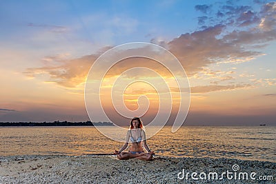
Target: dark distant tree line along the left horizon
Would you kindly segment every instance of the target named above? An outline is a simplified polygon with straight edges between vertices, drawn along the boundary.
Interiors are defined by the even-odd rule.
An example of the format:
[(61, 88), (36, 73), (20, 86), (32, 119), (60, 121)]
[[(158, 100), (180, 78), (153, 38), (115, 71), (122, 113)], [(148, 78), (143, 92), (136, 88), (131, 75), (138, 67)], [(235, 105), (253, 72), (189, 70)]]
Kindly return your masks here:
[(68, 121), (54, 121), (54, 122), (0, 122), (0, 126), (114, 126), (110, 122), (68, 122)]

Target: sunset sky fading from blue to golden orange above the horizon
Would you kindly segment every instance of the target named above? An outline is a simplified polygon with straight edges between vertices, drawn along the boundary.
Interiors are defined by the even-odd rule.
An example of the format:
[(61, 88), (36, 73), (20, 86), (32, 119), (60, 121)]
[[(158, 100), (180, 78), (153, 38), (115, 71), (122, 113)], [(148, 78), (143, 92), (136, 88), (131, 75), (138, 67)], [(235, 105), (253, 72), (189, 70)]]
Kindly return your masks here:
[[(186, 71), (184, 125), (276, 125), (275, 1), (2, 0), (0, 17), (0, 122), (108, 121), (88, 117), (88, 72), (110, 48), (146, 42), (166, 48)], [(108, 71), (103, 106), (120, 125), (128, 119), (115, 112), (110, 90), (124, 70), (137, 66), (172, 79), (150, 59), (126, 59)], [(148, 71), (121, 77), (157, 83)], [(121, 94), (130, 110), (150, 103), (144, 123), (159, 107), (152, 85), (137, 81)], [(138, 101), (141, 95), (146, 103)], [(166, 102), (172, 106), (168, 125), (179, 107), (173, 93), (172, 101)]]

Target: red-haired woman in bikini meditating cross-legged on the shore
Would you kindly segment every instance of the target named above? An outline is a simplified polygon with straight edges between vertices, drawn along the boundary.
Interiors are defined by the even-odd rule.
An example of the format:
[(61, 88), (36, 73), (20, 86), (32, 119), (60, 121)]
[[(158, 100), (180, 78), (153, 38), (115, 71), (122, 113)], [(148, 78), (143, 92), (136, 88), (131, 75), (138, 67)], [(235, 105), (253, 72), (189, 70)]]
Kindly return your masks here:
[[(144, 161), (152, 160), (152, 154), (154, 152), (150, 151), (148, 145), (146, 144), (146, 134), (145, 131), (142, 130), (142, 122), (139, 118), (135, 117), (130, 122), (130, 130), (126, 134), (126, 143), (121, 147), (119, 151), (115, 150), (114, 154), (117, 154), (117, 158), (120, 160), (127, 160), (127, 159), (140, 159)], [(131, 143), (129, 152), (123, 152), (126, 147), (128, 147), (128, 143)], [(146, 152), (144, 152), (142, 143)]]

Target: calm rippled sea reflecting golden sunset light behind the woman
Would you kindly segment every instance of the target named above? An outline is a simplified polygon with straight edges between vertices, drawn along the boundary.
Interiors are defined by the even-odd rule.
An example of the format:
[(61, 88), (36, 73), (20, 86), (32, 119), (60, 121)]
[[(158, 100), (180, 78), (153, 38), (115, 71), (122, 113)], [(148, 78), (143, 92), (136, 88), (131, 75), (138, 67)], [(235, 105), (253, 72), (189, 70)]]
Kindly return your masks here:
[[(112, 131), (112, 127), (106, 127)], [(99, 154), (123, 143), (95, 127), (0, 127), (0, 155)], [(157, 155), (213, 157), (276, 162), (276, 127), (164, 127), (147, 140)]]

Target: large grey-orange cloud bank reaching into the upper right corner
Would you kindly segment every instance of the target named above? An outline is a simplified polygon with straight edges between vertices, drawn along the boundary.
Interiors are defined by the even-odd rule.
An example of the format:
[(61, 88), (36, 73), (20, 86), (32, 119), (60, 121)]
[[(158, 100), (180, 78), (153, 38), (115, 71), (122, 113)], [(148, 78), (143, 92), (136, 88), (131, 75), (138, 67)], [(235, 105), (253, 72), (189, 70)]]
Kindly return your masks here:
[[(250, 6), (235, 5), (221, 6), (218, 12), (219, 19), (215, 14), (198, 17), (199, 24), (208, 23), (202, 30), (181, 34), (168, 42), (170, 51), (190, 75), (211, 63), (242, 63), (255, 59), (262, 55), (257, 48), (276, 39), (275, 3), (265, 4), (260, 12), (253, 12)], [(264, 19), (274, 21), (268, 21), (267, 25), (263, 21), (260, 27)], [(252, 47), (255, 50), (250, 49)]]

